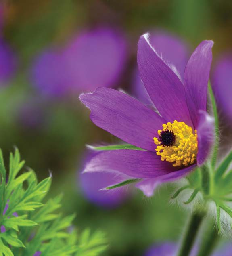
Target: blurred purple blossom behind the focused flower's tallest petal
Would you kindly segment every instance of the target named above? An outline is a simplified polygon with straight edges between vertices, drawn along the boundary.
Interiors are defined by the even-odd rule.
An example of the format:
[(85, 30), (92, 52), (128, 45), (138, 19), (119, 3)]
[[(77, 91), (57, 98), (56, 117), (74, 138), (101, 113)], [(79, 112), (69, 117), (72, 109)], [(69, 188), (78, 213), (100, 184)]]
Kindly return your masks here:
[[(185, 42), (180, 38), (165, 32), (154, 31), (150, 35), (150, 44), (160, 54), (163, 60), (169, 65), (174, 65), (180, 74), (181, 79), (184, 79), (184, 69), (186, 67), (189, 49)], [(135, 70), (132, 88), (134, 96), (145, 104), (152, 104), (148, 93), (142, 84), (138, 69)]]

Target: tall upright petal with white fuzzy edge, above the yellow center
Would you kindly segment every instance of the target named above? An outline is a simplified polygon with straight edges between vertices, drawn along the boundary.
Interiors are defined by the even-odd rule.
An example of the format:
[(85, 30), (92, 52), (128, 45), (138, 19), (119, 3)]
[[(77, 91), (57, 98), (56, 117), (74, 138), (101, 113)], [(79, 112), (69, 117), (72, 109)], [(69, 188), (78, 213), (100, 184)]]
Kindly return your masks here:
[(192, 126), (184, 86), (173, 66), (169, 67), (152, 48), (148, 34), (141, 36), (138, 42), (138, 68), (143, 84), (163, 118)]

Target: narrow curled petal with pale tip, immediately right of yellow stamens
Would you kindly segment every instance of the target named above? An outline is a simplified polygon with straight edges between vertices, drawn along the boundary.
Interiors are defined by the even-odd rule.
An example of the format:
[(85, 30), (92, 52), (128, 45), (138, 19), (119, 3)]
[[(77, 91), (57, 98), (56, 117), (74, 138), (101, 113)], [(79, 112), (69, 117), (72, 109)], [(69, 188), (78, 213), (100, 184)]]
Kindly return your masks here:
[(198, 153), (197, 164), (201, 166), (211, 152), (214, 142), (214, 118), (205, 111), (199, 111), (199, 124), (197, 126)]

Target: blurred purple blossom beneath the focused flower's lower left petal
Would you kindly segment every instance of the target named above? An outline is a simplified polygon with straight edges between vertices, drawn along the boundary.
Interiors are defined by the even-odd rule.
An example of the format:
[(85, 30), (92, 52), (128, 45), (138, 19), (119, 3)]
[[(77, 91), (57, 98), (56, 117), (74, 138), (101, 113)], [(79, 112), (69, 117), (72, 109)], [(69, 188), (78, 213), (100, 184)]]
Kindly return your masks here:
[[(97, 153), (90, 152), (85, 158), (85, 164), (90, 161)], [(78, 172), (78, 187), (81, 188), (85, 197), (92, 203), (112, 208), (118, 206), (126, 198), (125, 188), (112, 190), (101, 190), (109, 184), (114, 184), (115, 180), (118, 183), (125, 180), (125, 176), (112, 174), (111, 172), (95, 172), (95, 173), (79, 173)]]

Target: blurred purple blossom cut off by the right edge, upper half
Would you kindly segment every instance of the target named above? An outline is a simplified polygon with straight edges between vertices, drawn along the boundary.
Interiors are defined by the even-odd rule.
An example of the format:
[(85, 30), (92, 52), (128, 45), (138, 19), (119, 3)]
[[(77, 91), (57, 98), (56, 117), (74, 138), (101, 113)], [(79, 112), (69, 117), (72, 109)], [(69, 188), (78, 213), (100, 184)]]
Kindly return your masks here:
[(223, 55), (215, 66), (212, 78), (218, 105), (232, 123), (232, 54)]

